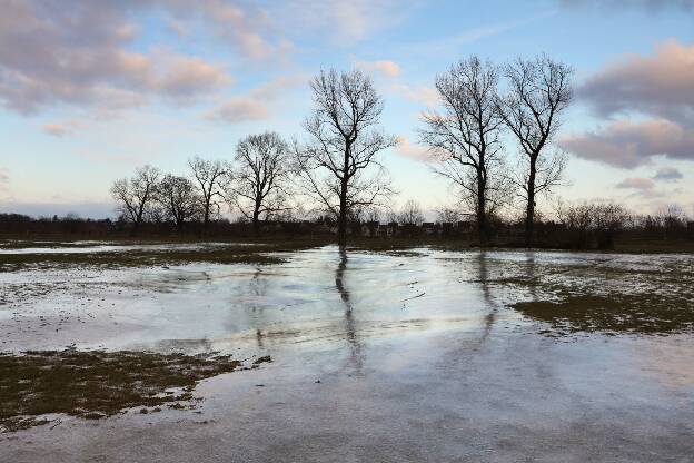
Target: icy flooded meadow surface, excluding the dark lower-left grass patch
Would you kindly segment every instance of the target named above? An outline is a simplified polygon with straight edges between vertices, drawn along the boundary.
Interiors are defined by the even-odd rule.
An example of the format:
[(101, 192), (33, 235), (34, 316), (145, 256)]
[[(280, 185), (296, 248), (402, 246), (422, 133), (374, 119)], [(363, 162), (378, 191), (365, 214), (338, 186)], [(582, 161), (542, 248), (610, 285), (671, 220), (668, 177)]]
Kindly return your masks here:
[(196, 410), (0, 434), (0, 461), (694, 461), (694, 256), (280, 257), (0, 273), (6, 353), (274, 359)]

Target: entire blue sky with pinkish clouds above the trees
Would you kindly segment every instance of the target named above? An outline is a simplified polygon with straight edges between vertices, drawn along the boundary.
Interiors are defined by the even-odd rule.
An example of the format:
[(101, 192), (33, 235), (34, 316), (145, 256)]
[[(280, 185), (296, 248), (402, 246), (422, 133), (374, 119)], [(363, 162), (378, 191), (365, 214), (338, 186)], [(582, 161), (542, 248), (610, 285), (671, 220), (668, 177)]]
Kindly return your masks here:
[(432, 211), (455, 200), (417, 139), (436, 76), (541, 53), (575, 69), (556, 195), (694, 215), (694, 0), (0, 0), (0, 213), (113, 216), (109, 188), (138, 166), (300, 140), (330, 68), (373, 78), (401, 140), (383, 155), (395, 205)]

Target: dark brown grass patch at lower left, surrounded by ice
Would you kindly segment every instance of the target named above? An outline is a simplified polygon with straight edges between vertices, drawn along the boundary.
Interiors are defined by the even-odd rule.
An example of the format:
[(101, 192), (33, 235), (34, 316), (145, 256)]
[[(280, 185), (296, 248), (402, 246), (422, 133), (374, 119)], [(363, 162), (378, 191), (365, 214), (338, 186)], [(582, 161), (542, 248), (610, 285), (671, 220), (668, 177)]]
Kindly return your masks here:
[(238, 368), (245, 367), (230, 356), (75, 349), (0, 354), (0, 427), (10, 432), (43, 424), (40, 416), (52, 413), (98, 420), (131, 407), (177, 407), (194, 398), (198, 381)]

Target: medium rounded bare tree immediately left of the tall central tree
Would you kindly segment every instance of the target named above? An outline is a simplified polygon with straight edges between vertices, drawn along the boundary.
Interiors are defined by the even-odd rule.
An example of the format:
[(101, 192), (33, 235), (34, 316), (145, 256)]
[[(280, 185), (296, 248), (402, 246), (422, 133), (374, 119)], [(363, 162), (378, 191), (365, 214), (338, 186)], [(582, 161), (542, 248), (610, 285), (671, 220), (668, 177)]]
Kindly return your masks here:
[(290, 176), (289, 147), (276, 132), (251, 135), (236, 148), (229, 200), (260, 234), (260, 218), (287, 209)]

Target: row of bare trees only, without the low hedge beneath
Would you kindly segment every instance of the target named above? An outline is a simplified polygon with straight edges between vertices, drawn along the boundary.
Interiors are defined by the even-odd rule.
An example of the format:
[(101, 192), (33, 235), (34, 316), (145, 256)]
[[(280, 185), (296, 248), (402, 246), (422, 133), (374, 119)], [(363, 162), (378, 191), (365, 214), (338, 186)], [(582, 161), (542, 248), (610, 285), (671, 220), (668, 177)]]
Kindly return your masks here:
[[(440, 106), (423, 115), (420, 142), (435, 173), (452, 183), (452, 203), (474, 217), (482, 244), (493, 237), (493, 218), (520, 200), (524, 240), (532, 245), (537, 197), (561, 184), (566, 166), (553, 142), (572, 100), (573, 72), (545, 56), (504, 66), (470, 57), (436, 78)], [(310, 89), (314, 108), (301, 140), (251, 135), (238, 144), (234, 159), (196, 157), (184, 176), (141, 167), (111, 188), (120, 217), (135, 233), (158, 220), (179, 232), (201, 221), (206, 233), (210, 218), (228, 208), (259, 234), (262, 221), (311, 211), (336, 221), (344, 245), (355, 217), (389, 209), (396, 191), (380, 154), (399, 140), (380, 128), (383, 98), (361, 71), (321, 71)], [(506, 159), (506, 135), (519, 152), (515, 169)]]

